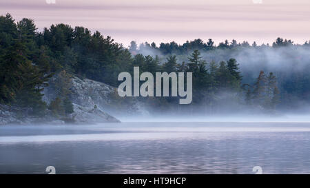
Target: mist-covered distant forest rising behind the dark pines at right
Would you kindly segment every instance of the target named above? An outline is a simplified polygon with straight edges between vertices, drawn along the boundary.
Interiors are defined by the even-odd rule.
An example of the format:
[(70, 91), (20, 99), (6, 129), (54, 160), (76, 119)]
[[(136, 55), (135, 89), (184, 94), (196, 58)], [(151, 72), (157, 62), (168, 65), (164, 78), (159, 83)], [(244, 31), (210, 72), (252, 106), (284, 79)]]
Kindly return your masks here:
[[(293, 41), (280, 37), (271, 45), (268, 43), (258, 45), (256, 42), (250, 45), (247, 41), (240, 43), (236, 40), (225, 40), (216, 45), (211, 39), (208, 39), (207, 42), (195, 39), (194, 41), (187, 41), (183, 45), (172, 42), (161, 43), (150, 48), (149, 45), (142, 44), (136, 53), (156, 54), (161, 59), (165, 59), (167, 56), (176, 56), (178, 66), (180, 66), (182, 64), (191, 65), (192, 62), (188, 61), (188, 57), (191, 56), (192, 52), (198, 50), (201, 59), (207, 62), (209, 70), (219, 69), (217, 74), (214, 71), (209, 72), (208, 79), (212, 88), (220, 87), (220, 91), (222, 91), (221, 94), (217, 91), (218, 94), (214, 96), (217, 98), (216, 101), (223, 103), (227, 101), (227, 106), (231, 101), (238, 101), (238, 104), (251, 104), (251, 109), (294, 111), (300, 107), (307, 108), (309, 105), (309, 46), (309, 41), (305, 41), (304, 44), (294, 44)], [(230, 63), (225, 65), (227, 61)], [(238, 67), (236, 72), (239, 72), (239, 75), (236, 75), (236, 72), (231, 72), (235, 69), (234, 67)], [(259, 100), (253, 99), (256, 95), (253, 94), (254, 85), (257, 83), (261, 71), (267, 74), (266, 77), (272, 73), (276, 85), (272, 91), (275, 93), (275, 97), (272, 100), (270, 99), (271, 91), (269, 90), (269, 99), (265, 100), (265, 104), (255, 103)], [(230, 76), (227, 72), (234, 76)], [(221, 76), (219, 77), (219, 75)], [(218, 79), (215, 81), (214, 78), (216, 77)], [(239, 90), (241, 94), (225, 94), (227, 85), (230, 85), (231, 88), (229, 92)], [(214, 94), (216, 90), (218, 89), (212, 90), (210, 94)], [(263, 93), (264, 98), (266, 98), (266, 92)], [(267, 105), (266, 103), (273, 104)], [(236, 107), (236, 104), (230, 106)], [(245, 109), (245, 107), (243, 108)], [(303, 110), (303, 112), (306, 111), (307, 109)]]

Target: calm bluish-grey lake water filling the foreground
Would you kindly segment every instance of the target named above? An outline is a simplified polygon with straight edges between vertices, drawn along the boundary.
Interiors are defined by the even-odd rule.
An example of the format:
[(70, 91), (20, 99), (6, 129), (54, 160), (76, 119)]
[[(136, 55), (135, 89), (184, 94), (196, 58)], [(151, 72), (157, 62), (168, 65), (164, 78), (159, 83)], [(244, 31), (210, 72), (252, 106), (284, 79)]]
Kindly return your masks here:
[(0, 126), (0, 174), (310, 174), (310, 123)]

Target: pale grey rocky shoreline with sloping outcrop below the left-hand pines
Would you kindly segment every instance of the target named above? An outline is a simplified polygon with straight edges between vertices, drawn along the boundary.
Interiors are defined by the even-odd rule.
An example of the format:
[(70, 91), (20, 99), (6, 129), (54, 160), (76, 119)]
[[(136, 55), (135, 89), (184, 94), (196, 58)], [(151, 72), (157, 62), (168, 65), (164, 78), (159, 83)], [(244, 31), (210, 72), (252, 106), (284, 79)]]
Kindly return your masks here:
[[(142, 105), (136, 98), (122, 98), (117, 94), (117, 88), (93, 81), (80, 79), (72, 76), (70, 88), (70, 101), (74, 112), (66, 117), (54, 117), (48, 110), (44, 117), (30, 116), (28, 109), (0, 105), (0, 125), (9, 124), (94, 124), (94, 123), (119, 123), (115, 116), (123, 114), (149, 115), (145, 105)], [(43, 90), (43, 101), (50, 104), (56, 98), (52, 86)]]

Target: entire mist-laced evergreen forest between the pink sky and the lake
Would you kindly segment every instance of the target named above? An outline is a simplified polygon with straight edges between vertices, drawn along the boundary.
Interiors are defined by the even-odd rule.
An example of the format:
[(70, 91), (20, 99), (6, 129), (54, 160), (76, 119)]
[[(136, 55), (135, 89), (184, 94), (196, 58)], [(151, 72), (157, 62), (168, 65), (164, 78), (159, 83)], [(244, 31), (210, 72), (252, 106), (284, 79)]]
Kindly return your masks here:
[[(212, 39), (195, 39), (182, 45), (132, 41), (124, 47), (81, 26), (60, 23), (38, 32), (32, 19), (14, 21), (6, 14), (0, 17), (0, 109), (20, 118), (74, 122), (72, 83), (92, 80), (112, 91), (120, 72), (138, 66), (141, 73), (192, 72), (192, 103), (179, 105), (173, 97), (121, 98), (112, 91), (105, 95), (110, 105), (94, 103), (87, 110), (132, 113), (139, 103), (149, 114), (297, 112), (310, 101), (309, 43), (278, 38), (271, 45), (235, 40), (216, 45)], [(44, 100), (46, 90), (54, 93), (49, 100)]]

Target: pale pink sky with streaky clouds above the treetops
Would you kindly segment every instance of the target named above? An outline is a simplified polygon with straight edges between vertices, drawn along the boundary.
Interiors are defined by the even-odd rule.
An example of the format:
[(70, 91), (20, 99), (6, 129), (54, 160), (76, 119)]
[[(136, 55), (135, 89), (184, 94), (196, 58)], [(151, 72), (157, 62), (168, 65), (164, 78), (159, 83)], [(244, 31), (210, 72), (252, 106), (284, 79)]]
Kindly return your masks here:
[[(54, 1), (54, 2), (53, 2)], [(0, 0), (0, 14), (99, 30), (126, 47), (137, 43), (228, 39), (272, 43), (310, 40), (309, 0)]]

